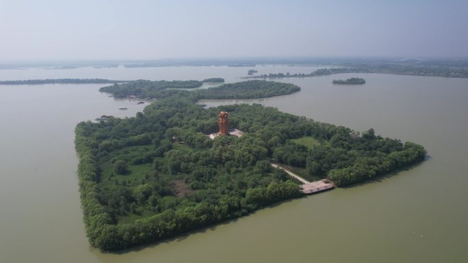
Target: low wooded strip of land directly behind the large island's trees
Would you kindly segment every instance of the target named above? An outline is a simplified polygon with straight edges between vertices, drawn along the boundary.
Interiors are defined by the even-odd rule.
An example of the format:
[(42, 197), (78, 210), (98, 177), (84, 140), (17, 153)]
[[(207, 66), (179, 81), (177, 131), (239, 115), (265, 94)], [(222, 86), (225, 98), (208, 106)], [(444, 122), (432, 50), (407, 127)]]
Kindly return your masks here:
[[(211, 80), (211, 79), (209, 79)], [(289, 83), (274, 81), (243, 81), (197, 89), (189, 92), (177, 88), (200, 87), (201, 81), (130, 81), (101, 87), (99, 91), (113, 94), (116, 98), (137, 96), (138, 98), (169, 98), (171, 96), (191, 97), (200, 99), (228, 99), (228, 98), (266, 98), (298, 92), (300, 87)]]

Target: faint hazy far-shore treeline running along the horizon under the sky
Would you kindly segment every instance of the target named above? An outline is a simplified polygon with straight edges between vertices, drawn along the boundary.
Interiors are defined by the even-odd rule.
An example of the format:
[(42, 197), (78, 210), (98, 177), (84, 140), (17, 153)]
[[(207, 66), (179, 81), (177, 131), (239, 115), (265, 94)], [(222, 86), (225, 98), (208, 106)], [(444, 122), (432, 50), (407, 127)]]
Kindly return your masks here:
[[(467, 57), (452, 58), (403, 58), (403, 57), (294, 57), (263, 59), (157, 59), (157, 60), (79, 60), (79, 61), (36, 61), (36, 62), (2, 62), (0, 68), (81, 68), (93, 66), (96, 68), (125, 66), (139, 67), (170, 67), (170, 66), (255, 66), (255, 65), (293, 65), (316, 66), (337, 65), (346, 68), (382, 68), (398, 67), (413, 71), (421, 68), (439, 68), (450, 72), (452, 70), (468, 69)], [(422, 72), (421, 72), (422, 73)], [(396, 73), (395, 73), (396, 74)]]

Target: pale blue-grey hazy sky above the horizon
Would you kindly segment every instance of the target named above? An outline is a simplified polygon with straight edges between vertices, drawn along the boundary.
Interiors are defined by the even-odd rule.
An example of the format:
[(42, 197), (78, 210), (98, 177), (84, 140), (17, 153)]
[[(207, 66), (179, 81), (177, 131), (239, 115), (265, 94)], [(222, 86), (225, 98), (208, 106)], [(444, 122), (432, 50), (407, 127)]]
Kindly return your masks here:
[(0, 0), (0, 60), (468, 56), (468, 0)]

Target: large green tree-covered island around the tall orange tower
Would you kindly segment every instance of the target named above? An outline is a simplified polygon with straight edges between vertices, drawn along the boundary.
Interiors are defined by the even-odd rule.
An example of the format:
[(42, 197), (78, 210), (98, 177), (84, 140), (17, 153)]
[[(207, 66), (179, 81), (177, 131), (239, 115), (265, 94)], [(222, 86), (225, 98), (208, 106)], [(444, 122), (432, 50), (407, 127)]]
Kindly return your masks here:
[[(196, 105), (203, 98), (298, 92), (293, 84), (170, 88), (193, 85), (130, 81), (103, 87), (101, 92), (116, 97), (157, 100), (135, 117), (77, 124), (79, 189), (93, 247), (153, 243), (304, 196), (300, 182), (280, 167), (307, 180), (348, 186), (426, 155), (423, 146), (380, 137), (372, 128), (359, 133), (257, 104)], [(234, 129), (241, 132), (233, 135)]]

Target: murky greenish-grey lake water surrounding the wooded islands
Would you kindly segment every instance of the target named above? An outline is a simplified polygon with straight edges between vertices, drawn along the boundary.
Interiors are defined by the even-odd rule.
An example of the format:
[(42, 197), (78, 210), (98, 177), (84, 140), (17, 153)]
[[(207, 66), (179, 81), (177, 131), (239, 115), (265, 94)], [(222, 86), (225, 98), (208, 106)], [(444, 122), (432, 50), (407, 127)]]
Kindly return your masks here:
[[(320, 67), (257, 66), (259, 74)], [(0, 80), (104, 78), (241, 81), (250, 68), (0, 70)], [(333, 85), (363, 77), (365, 85)], [(75, 125), (142, 111), (102, 85), (0, 86), (0, 262), (467, 262), (468, 79), (339, 74), (281, 79), (296, 94), (255, 102), (354, 130), (421, 143), (424, 163), (380, 180), (284, 202), (163, 243), (101, 253), (79, 202)], [(127, 107), (127, 111), (118, 110)]]

